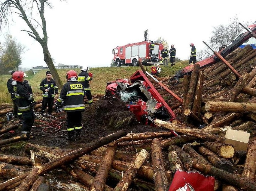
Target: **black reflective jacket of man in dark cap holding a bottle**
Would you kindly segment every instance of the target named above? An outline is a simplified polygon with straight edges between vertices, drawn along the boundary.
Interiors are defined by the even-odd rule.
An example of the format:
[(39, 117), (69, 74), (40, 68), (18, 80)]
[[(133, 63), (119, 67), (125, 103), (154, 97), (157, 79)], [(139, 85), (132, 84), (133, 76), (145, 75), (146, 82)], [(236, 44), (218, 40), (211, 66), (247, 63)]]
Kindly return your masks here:
[[(48, 93), (45, 93), (45, 90), (49, 88)], [(50, 81), (47, 81), (47, 78), (43, 79), (39, 85), (39, 89), (43, 91), (43, 97), (45, 98), (53, 98), (55, 94), (58, 93), (58, 86), (56, 82), (51, 78)]]

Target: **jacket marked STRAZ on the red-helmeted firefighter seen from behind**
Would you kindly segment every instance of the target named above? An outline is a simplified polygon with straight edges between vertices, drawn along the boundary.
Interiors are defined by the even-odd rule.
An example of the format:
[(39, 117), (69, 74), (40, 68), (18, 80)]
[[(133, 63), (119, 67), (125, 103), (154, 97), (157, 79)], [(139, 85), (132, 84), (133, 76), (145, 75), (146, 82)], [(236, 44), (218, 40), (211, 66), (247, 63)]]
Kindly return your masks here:
[(84, 87), (78, 81), (68, 81), (63, 85), (57, 101), (64, 102), (64, 111), (83, 111), (84, 108)]

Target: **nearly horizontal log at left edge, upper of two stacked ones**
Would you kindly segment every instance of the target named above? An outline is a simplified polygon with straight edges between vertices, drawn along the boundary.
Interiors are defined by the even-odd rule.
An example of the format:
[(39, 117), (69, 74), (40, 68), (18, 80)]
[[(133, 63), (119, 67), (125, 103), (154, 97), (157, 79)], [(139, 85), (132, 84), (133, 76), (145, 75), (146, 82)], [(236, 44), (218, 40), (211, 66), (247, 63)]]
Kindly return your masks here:
[(10, 163), (10, 164), (28, 165), (28, 166), (32, 164), (31, 159), (29, 159), (28, 157), (21, 157), (21, 156), (16, 156), (12, 154), (9, 154), (9, 155), (0, 154), (0, 161), (5, 163)]

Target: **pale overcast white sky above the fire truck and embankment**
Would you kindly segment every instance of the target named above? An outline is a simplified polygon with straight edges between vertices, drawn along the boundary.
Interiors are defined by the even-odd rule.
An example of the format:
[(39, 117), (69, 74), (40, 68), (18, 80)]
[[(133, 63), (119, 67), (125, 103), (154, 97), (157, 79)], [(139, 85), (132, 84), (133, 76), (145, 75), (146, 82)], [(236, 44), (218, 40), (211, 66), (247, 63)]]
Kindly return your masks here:
[[(55, 65), (110, 66), (114, 47), (143, 41), (148, 29), (150, 40), (164, 38), (184, 60), (190, 55), (190, 43), (197, 51), (206, 47), (202, 41), (209, 41), (213, 27), (227, 25), (235, 16), (240, 22), (256, 21), (256, 1), (246, 2), (52, 0), (53, 9), (45, 10), (48, 48)], [(8, 31), (26, 46), (22, 67), (46, 66), (40, 44), (21, 31), (28, 30), (24, 21), (14, 21), (2, 31), (1, 40)]]

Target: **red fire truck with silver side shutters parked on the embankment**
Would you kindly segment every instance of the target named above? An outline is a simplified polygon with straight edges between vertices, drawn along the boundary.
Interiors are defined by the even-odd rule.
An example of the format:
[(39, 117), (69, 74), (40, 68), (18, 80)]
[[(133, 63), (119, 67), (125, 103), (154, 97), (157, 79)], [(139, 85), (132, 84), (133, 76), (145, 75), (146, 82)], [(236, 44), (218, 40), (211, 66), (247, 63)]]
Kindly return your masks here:
[(153, 42), (155, 46), (151, 54), (151, 41), (149, 40), (113, 48), (112, 54), (114, 54), (114, 63), (117, 67), (121, 66), (121, 64), (125, 64), (126, 66), (138, 66), (138, 61), (143, 65), (155, 65), (162, 60), (160, 54), (163, 49), (163, 44), (159, 41)]

